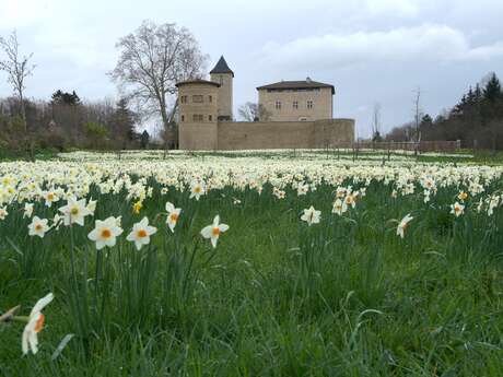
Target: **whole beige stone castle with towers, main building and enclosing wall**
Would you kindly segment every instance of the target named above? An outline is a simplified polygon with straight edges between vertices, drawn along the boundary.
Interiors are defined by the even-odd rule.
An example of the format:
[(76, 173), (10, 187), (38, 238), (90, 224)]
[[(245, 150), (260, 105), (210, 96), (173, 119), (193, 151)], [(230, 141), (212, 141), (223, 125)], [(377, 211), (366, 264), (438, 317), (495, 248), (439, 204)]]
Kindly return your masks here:
[(270, 119), (244, 122), (233, 121), (234, 72), (223, 57), (210, 78), (176, 85), (183, 150), (314, 149), (354, 141), (354, 120), (332, 119), (332, 85), (306, 80), (259, 86), (259, 104), (268, 113), (273, 104)]

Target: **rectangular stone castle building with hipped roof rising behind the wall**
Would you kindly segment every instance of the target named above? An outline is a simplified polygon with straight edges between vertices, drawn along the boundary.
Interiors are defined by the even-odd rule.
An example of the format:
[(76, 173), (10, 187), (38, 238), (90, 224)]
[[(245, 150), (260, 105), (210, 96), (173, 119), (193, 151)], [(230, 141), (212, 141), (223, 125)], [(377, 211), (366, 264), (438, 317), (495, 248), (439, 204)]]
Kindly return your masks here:
[(307, 78), (305, 81), (280, 81), (257, 87), (258, 103), (268, 120), (296, 121), (331, 119), (334, 115), (334, 85)]

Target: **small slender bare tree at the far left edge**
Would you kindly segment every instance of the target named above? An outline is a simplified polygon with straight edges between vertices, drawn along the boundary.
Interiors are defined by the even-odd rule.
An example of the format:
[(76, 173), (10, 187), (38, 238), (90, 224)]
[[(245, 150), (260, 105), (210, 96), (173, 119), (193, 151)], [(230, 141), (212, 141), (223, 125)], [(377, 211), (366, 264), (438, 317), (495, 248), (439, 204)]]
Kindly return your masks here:
[(15, 31), (5, 39), (0, 36), (0, 48), (5, 55), (5, 60), (0, 60), (0, 71), (8, 74), (8, 82), (12, 85), (14, 94), (20, 102), (21, 118), (26, 132), (26, 106), (24, 103), (25, 79), (33, 73), (34, 64), (30, 63), (33, 54), (21, 57), (20, 44)]

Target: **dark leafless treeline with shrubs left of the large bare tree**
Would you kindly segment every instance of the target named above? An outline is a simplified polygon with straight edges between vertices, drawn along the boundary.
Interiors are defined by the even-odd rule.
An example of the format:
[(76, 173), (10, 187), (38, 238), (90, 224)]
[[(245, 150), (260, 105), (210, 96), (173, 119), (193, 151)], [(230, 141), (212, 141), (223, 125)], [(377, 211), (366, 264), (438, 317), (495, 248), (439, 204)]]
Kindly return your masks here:
[(74, 91), (58, 90), (50, 101), (24, 99), (24, 107), (25, 122), (17, 98), (0, 99), (0, 155), (39, 149), (139, 149), (150, 141), (147, 131), (136, 131), (139, 119), (126, 99), (87, 103)]

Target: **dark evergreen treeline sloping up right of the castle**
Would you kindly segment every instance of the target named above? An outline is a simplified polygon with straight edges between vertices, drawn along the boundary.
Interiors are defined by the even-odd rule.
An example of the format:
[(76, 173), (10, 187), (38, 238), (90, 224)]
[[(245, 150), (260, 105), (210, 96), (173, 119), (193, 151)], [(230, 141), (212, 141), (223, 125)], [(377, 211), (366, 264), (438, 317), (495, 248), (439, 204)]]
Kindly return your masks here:
[(503, 91), (495, 73), (476, 84), (445, 114), (421, 117), (416, 122), (394, 128), (386, 140), (460, 140), (463, 148), (503, 150)]

